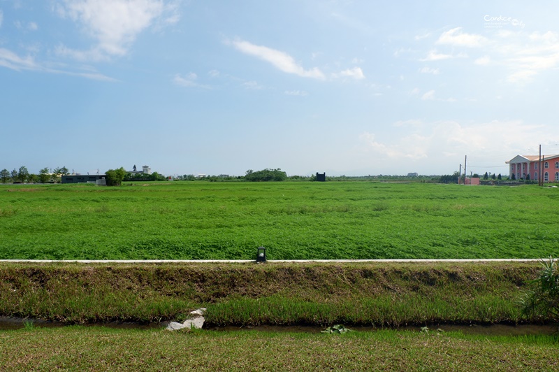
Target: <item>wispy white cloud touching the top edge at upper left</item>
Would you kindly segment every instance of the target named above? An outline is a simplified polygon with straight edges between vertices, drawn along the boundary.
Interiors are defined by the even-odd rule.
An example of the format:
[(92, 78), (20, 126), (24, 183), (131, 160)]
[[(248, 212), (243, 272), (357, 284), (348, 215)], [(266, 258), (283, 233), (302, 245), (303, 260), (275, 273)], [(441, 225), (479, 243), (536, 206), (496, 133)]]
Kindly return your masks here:
[(85, 51), (60, 45), (57, 52), (80, 60), (121, 57), (165, 9), (158, 0), (64, 0), (58, 4), (59, 15), (80, 23), (96, 44)]

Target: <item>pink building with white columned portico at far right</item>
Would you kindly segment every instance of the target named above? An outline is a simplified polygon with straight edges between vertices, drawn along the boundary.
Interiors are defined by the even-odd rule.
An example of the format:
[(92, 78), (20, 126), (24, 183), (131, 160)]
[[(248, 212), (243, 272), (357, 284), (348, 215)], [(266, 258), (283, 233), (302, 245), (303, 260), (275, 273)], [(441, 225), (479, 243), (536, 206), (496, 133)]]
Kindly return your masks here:
[[(544, 182), (559, 181), (559, 155), (542, 155), (542, 164), (539, 165), (539, 155), (516, 155), (510, 159), (509, 177), (517, 180), (538, 180), (543, 175)], [(541, 167), (542, 169), (538, 169)]]

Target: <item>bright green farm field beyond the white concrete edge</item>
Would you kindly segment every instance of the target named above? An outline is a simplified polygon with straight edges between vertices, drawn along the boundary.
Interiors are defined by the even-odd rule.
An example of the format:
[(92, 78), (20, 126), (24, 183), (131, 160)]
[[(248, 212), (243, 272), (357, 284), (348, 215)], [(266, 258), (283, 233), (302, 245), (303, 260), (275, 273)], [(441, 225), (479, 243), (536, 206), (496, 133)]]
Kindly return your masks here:
[(1, 185), (0, 259), (540, 258), (558, 206), (535, 185)]

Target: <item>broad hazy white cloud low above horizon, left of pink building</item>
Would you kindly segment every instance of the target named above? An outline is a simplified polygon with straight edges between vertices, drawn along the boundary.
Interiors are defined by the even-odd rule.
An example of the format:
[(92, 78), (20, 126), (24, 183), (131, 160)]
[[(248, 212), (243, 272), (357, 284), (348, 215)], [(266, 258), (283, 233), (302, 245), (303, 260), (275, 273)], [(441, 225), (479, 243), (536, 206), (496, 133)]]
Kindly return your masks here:
[[(447, 167), (458, 168), (467, 155), (472, 166), (474, 159), (489, 159), (491, 163), (486, 165), (502, 166), (506, 171), (504, 162), (519, 152), (525, 152), (526, 143), (540, 143), (542, 136), (551, 129), (525, 124), (521, 120), (473, 123), (407, 120), (404, 124), (396, 122), (393, 127), (401, 127), (400, 135), (391, 133), (382, 137), (370, 131), (358, 135), (356, 149), (362, 162), (373, 158), (375, 163), (371, 165), (374, 166), (386, 161), (390, 162), (391, 169), (432, 163), (437, 164), (438, 169), (433, 169), (433, 173), (442, 174), (447, 172), (444, 170)], [(554, 141), (557, 139), (553, 138)], [(495, 143), (499, 144), (498, 148), (495, 148)]]

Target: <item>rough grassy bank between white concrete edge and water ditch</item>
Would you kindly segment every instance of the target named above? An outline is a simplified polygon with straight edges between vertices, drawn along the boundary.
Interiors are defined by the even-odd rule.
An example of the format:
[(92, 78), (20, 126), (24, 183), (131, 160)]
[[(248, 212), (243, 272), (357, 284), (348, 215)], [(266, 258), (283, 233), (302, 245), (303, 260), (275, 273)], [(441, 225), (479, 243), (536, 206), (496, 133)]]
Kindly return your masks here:
[(208, 324), (535, 322), (518, 296), (537, 263), (0, 264), (0, 315)]

